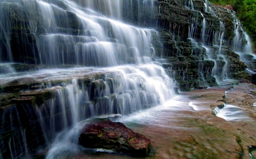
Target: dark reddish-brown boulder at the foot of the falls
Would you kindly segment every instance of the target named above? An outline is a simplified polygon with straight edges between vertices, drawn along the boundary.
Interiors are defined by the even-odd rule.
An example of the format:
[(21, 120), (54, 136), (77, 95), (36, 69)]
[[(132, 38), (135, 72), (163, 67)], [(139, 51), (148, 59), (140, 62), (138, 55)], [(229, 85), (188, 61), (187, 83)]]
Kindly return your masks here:
[(85, 125), (79, 143), (86, 148), (110, 149), (134, 156), (146, 156), (151, 148), (150, 139), (127, 128), (123, 123), (109, 119)]

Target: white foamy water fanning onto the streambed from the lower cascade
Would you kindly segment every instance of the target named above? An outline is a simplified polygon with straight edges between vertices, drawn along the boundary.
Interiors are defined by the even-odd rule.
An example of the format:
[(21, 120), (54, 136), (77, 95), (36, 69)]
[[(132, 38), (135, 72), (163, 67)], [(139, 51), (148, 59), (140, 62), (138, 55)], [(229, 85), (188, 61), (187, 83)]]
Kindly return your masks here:
[[(196, 101), (193, 101), (196, 103)], [(177, 126), (175, 121), (177, 120), (177, 115), (182, 115), (183, 111), (200, 111), (204, 108), (197, 108), (193, 105), (193, 102), (189, 102), (185, 96), (175, 96), (171, 100), (164, 102), (162, 105), (155, 106), (150, 109), (141, 110), (130, 115), (123, 115), (114, 121), (122, 122), (125, 124), (142, 124), (160, 127), (170, 127), (170, 128), (185, 128), (183, 126)], [(193, 106), (191, 106), (191, 104)], [(179, 116), (183, 118), (183, 116)], [(185, 115), (184, 118), (189, 117)], [(174, 123), (172, 123), (174, 122)]]

